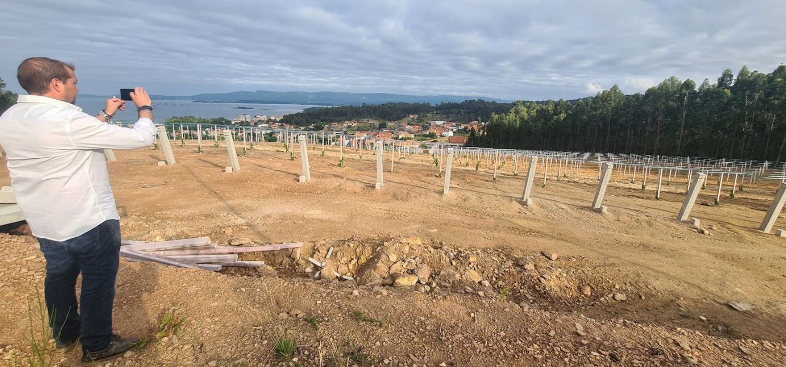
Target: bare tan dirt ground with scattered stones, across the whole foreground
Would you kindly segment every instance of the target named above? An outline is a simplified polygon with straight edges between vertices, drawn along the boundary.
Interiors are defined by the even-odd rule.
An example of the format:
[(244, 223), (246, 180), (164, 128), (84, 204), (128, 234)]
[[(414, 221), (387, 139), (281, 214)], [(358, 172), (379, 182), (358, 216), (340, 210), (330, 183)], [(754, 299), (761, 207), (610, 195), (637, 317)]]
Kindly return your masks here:
[[(684, 176), (654, 200), (654, 174), (642, 190), (641, 178), (615, 172), (601, 215), (588, 208), (594, 165), (561, 181), (552, 167), (545, 187), (541, 171), (524, 207), (510, 161), (494, 181), (487, 165), (457, 159), (443, 196), (425, 154), (391, 174), (387, 152), (377, 191), (373, 152), (345, 149), (337, 167), (337, 149), (310, 147), (302, 184), (299, 152), (291, 161), (280, 144), (249, 149), (231, 174), (223, 146), (173, 145), (171, 167), (156, 167), (163, 152), (152, 149), (109, 163), (123, 238), (306, 244), (241, 256), (277, 274), (123, 260), (116, 332), (149, 343), (112, 365), (786, 365), (786, 240), (757, 230), (775, 182), (697, 204), (704, 235), (674, 219)], [(716, 180), (699, 202), (714, 201)], [(3, 164), (0, 185), (9, 182)], [(310, 277), (307, 257), (322, 261), (331, 247), (356, 281)], [(0, 251), (0, 365), (11, 365), (29, 354), (44, 261), (32, 237), (0, 234)], [(424, 272), (420, 284), (393, 285)], [(171, 312), (181, 328), (156, 337)], [(281, 336), (298, 343), (296, 361), (274, 355)], [(54, 360), (76, 365), (79, 351)]]

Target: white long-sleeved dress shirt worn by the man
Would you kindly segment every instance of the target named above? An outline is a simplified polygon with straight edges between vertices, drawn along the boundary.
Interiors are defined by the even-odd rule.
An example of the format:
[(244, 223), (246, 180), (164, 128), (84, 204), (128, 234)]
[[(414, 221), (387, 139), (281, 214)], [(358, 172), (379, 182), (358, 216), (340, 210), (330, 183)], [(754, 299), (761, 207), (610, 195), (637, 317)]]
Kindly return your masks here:
[(119, 219), (103, 149), (151, 145), (156, 127), (103, 123), (50, 97), (20, 95), (0, 116), (11, 187), (35, 237), (68, 240)]

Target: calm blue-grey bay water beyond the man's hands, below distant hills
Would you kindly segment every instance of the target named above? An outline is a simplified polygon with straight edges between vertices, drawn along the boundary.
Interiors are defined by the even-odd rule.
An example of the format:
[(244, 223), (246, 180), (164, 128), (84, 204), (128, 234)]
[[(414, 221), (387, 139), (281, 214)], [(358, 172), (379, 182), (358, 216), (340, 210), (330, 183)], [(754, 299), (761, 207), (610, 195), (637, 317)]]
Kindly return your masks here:
[[(106, 98), (103, 97), (76, 97), (76, 105), (81, 107), (84, 112), (95, 115), (104, 109)], [(233, 119), (235, 116), (241, 114), (248, 114), (252, 117), (255, 115), (267, 116), (283, 116), (290, 113), (302, 112), (305, 108), (310, 107), (325, 107), (314, 105), (273, 105), (273, 104), (257, 104), (257, 103), (211, 103), (211, 102), (194, 102), (185, 100), (159, 100), (152, 101), (152, 105), (156, 108), (153, 111), (153, 116), (156, 117), (157, 122), (163, 122), (167, 117), (172, 116), (196, 116), (211, 119), (214, 117), (224, 117), (226, 119)], [(248, 107), (248, 108), (233, 108), (233, 107)], [(134, 102), (126, 101), (126, 110), (118, 111), (115, 115), (115, 122), (133, 123), (137, 120), (136, 108)]]

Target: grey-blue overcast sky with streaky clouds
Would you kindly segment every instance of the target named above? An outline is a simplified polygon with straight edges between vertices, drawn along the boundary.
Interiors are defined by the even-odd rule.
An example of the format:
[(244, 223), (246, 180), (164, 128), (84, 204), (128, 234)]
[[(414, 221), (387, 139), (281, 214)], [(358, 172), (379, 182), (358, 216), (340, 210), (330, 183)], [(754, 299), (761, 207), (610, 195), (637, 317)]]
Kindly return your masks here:
[[(170, 5), (172, 4), (172, 5)], [(575, 98), (786, 62), (786, 1), (6, 0), (0, 78), (76, 65), (81, 93), (306, 90)]]

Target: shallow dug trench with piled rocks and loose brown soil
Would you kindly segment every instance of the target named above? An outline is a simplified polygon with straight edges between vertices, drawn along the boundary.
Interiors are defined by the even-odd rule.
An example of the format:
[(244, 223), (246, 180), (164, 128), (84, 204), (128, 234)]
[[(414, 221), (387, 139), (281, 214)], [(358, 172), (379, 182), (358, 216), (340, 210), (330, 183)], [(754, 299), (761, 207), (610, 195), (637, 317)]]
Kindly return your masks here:
[[(511, 248), (462, 249), (420, 237), (352, 237), (302, 248), (241, 255), (265, 268), (225, 268), (240, 277), (281, 277), (379, 292), (496, 298), (523, 309), (688, 328), (729, 339), (783, 342), (783, 320), (718, 307), (661, 289), (635, 270), (586, 257)], [(315, 265), (318, 264), (318, 265)], [(322, 267), (324, 265), (324, 267)], [(330, 274), (332, 271), (335, 273)], [(344, 280), (339, 275), (352, 277)], [(712, 303), (712, 304), (708, 304)]]

